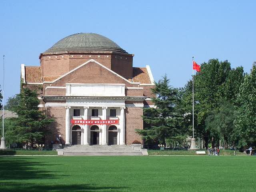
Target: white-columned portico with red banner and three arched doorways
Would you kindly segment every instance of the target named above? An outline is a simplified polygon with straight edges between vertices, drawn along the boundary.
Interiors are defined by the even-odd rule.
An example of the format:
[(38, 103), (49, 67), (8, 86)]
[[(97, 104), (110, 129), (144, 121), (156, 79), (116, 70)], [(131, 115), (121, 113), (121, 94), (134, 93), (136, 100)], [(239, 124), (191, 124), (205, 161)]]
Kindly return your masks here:
[[(107, 145), (109, 128), (113, 126), (116, 130), (110, 130), (110, 132), (117, 132), (116, 144), (125, 144), (125, 104), (122, 106), (102, 106), (98, 107), (92, 106), (65, 106), (66, 108), (66, 145), (76, 144), (72, 137), (72, 132), (77, 132), (78, 130), (73, 130), (74, 126), (80, 127), (81, 132), (81, 145)], [(79, 114), (82, 112), (82, 114)], [(72, 124), (72, 121), (74, 124)], [(102, 124), (102, 122), (108, 121), (108, 124)], [(80, 123), (81, 122), (81, 123)], [(90, 123), (89, 123), (90, 122)], [(118, 122), (118, 123), (116, 123)], [(97, 129), (98, 127), (98, 129)], [(94, 133), (96, 132), (96, 134)], [(91, 134), (92, 133), (92, 134)], [(97, 136), (98, 135), (98, 136)], [(92, 138), (94, 137), (94, 138)], [(95, 142), (95, 139), (98, 142)], [(112, 143), (111, 143), (112, 144)]]

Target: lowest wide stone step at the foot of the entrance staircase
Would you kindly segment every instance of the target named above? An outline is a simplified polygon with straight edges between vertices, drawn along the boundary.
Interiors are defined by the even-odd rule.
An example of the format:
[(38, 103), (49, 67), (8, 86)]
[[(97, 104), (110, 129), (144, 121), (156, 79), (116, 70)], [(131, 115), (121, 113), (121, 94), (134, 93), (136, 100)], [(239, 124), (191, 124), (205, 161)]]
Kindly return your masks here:
[(63, 152), (65, 156), (141, 156), (142, 152)]

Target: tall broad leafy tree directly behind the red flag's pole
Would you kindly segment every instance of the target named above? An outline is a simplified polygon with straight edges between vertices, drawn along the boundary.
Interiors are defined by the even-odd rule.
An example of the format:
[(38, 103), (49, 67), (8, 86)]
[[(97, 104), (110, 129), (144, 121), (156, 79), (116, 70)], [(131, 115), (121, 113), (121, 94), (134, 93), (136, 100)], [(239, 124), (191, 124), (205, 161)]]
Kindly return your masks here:
[[(194, 120), (195, 132), (202, 135), (205, 147), (208, 141), (212, 146), (216, 143), (220, 132), (211, 123), (226, 100), (235, 104), (240, 84), (243, 82), (244, 72), (242, 67), (231, 69), (228, 61), (211, 59), (201, 65), (201, 72), (194, 76)], [(182, 105), (186, 110), (187, 119), (192, 122), (192, 80), (184, 86), (182, 94)], [(208, 124), (206, 125), (206, 119)], [(229, 126), (229, 125), (226, 125)], [(191, 126), (190, 126), (191, 127)], [(219, 133), (219, 134), (218, 134)], [(214, 138), (215, 137), (215, 138)]]

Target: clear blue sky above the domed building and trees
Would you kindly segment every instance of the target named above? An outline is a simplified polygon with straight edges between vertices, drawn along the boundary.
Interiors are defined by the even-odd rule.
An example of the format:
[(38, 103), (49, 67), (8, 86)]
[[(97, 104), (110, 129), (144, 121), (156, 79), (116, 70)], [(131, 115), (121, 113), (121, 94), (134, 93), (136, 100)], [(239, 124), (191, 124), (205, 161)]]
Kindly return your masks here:
[[(0, 85), (6, 55), (5, 97), (20, 91), (20, 64), (79, 32), (104, 35), (134, 54), (134, 66), (150, 65), (181, 87), (191, 78), (192, 56), (228, 60), (250, 72), (256, 61), (256, 1), (10, 1), (0, 2)], [(6, 101), (6, 99), (5, 99)]]

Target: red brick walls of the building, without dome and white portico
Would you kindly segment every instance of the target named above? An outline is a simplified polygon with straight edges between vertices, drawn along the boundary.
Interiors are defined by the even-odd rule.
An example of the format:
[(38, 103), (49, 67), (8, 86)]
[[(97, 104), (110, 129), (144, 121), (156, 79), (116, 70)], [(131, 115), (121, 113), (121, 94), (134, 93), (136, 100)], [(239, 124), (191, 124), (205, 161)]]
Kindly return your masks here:
[(135, 129), (143, 129), (143, 104), (144, 107), (153, 105), (150, 88), (154, 80), (149, 66), (133, 68), (132, 54), (111, 51), (42, 53), (39, 58), (40, 67), (27, 68), (22, 76), (28, 88), (40, 87), (39, 97), (43, 98), (40, 104), (48, 106), (45, 108), (48, 116), (55, 118), (51, 125), (53, 132), (47, 136), (49, 142), (58, 134), (66, 142), (67, 84), (124, 84), (125, 143), (142, 142)]

